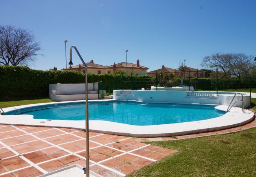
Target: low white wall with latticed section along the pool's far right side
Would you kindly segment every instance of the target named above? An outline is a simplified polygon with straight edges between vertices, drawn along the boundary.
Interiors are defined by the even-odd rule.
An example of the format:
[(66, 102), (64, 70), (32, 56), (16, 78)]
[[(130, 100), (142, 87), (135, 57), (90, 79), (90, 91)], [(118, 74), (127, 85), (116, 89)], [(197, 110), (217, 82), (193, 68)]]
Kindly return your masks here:
[[(234, 94), (219, 94), (218, 97), (187, 97), (188, 91), (165, 91), (165, 90), (113, 90), (115, 100), (135, 100), (143, 102), (169, 102), (169, 103), (196, 103), (228, 106)], [(237, 95), (234, 101), (242, 99)], [(234, 102), (233, 101), (233, 102)], [(250, 106), (250, 95), (244, 94), (245, 108)], [(237, 102), (234, 107), (241, 107)]]

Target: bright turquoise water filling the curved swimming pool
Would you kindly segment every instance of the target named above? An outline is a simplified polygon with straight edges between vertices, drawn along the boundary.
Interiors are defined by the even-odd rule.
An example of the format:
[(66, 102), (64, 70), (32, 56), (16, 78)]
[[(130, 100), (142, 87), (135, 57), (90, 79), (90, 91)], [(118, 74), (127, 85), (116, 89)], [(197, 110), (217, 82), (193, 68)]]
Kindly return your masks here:
[[(46, 105), (20, 109), (9, 114), (32, 114), (36, 119), (85, 120), (85, 103)], [(213, 106), (134, 101), (89, 102), (89, 120), (106, 120), (130, 125), (159, 125), (205, 120), (222, 116)]]

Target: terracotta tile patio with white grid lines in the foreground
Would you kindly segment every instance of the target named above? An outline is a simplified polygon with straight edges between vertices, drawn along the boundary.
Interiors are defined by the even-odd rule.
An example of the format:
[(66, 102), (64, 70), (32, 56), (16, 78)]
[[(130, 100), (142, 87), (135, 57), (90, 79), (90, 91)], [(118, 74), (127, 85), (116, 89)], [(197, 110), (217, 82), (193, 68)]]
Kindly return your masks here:
[[(135, 142), (131, 137), (89, 133), (90, 170), (119, 177), (175, 150)], [(86, 165), (85, 133), (75, 129), (0, 125), (0, 176), (39, 176)]]

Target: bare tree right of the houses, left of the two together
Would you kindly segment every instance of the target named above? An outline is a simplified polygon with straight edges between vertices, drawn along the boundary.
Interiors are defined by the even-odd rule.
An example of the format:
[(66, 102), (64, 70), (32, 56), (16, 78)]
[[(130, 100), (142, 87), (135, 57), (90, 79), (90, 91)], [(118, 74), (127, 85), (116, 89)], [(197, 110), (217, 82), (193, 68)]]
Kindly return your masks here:
[(218, 68), (224, 72), (221, 78), (225, 77), (230, 70), (230, 60), (232, 60), (231, 53), (215, 53), (211, 56), (206, 56), (203, 58), (202, 67)]

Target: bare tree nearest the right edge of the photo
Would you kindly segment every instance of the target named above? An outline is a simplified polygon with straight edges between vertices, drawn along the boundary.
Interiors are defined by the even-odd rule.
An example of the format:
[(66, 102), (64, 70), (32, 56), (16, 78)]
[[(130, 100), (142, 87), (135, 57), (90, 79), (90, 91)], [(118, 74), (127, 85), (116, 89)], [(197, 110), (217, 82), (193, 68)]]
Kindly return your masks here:
[(255, 68), (253, 62), (253, 56), (245, 55), (244, 53), (232, 54), (232, 60), (230, 60), (230, 71), (233, 76), (236, 76), (239, 81), (241, 77), (247, 77), (252, 69)]

